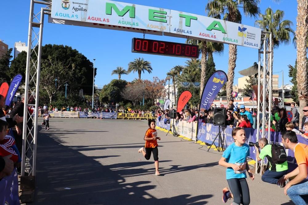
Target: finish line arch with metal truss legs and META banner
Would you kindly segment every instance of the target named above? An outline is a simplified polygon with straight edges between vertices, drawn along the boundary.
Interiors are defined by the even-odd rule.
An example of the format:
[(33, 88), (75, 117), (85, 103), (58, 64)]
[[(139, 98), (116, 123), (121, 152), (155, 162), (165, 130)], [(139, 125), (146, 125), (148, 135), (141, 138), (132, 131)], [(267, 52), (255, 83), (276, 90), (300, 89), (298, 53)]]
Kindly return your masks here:
[[(69, 0), (30, 0), (25, 93), (30, 93), (29, 96), (34, 98), (35, 103), (29, 104), (29, 96), (25, 95), (21, 187), (32, 191), (34, 191), (35, 187), (38, 112), (34, 112), (34, 116), (30, 115), (34, 122), (31, 127), (28, 127), (26, 122), (29, 120), (27, 119), (28, 106), (34, 106), (36, 110), (38, 110), (39, 106), (39, 82), (45, 14), (48, 16), (48, 22), (51, 23), (192, 38), (258, 49), (258, 99), (262, 99), (262, 102), (259, 100), (257, 105), (258, 114), (261, 114), (257, 118), (258, 131), (260, 131), (260, 126), (263, 127), (267, 121), (270, 122), (270, 118), (266, 117), (266, 110), (270, 110), (271, 100), (266, 101), (266, 97), (263, 96), (272, 96), (271, 33), (262, 32), (261, 29), (251, 26), (181, 11), (109, 0), (95, 1), (95, 3), (94, 1), (90, 3), (88, 0), (75, 0), (74, 5), (72, 5), (72, 1), (70, 2)], [(38, 13), (34, 12), (34, 6), (36, 5), (41, 7)], [(73, 8), (74, 11), (71, 10)], [(108, 21), (107, 18), (98, 17), (101, 16), (101, 13), (98, 13), (101, 10), (97, 8), (103, 8), (104, 15), (110, 17)], [(121, 20), (119, 20), (119, 17)], [(246, 30), (250, 31), (249, 34)], [(250, 37), (249, 40), (247, 35)], [(239, 40), (235, 40), (236, 38)], [(38, 53), (35, 52), (36, 48), (38, 48)], [(33, 59), (32, 55), (35, 55), (37, 58)], [(267, 75), (269, 77), (263, 77)], [(27, 130), (30, 132), (27, 133)], [(261, 137), (270, 136), (270, 130), (266, 133), (257, 132), (257, 140), (260, 135)], [(28, 176), (25, 176), (25, 171), (28, 173)], [(32, 182), (29, 183), (30, 181)]]

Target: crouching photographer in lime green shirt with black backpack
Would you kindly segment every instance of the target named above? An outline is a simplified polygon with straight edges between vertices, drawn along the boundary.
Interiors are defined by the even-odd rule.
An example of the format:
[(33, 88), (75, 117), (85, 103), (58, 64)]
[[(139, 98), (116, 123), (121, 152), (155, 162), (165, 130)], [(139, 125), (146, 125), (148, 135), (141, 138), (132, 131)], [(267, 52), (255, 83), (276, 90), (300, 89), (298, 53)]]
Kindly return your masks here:
[[(249, 146), (251, 144), (249, 143)], [(261, 138), (259, 143), (254, 144), (254, 147), (256, 148), (257, 160), (261, 161), (266, 157), (270, 163), (268, 164), (269, 169), (262, 175), (262, 181), (284, 187), (285, 184), (278, 184), (278, 179), (286, 175), (288, 171), (287, 156), (284, 148), (281, 145), (268, 144), (266, 138)], [(259, 152), (258, 147), (261, 148), (261, 152)]]

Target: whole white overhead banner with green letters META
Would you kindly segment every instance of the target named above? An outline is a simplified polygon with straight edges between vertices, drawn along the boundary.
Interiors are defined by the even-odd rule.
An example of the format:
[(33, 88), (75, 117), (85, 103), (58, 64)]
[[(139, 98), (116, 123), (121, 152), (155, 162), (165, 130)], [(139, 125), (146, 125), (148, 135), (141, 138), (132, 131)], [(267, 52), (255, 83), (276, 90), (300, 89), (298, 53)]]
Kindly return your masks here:
[(261, 46), (260, 28), (182, 11), (109, 0), (53, 0), (49, 22), (132, 32), (144, 31), (255, 49)]

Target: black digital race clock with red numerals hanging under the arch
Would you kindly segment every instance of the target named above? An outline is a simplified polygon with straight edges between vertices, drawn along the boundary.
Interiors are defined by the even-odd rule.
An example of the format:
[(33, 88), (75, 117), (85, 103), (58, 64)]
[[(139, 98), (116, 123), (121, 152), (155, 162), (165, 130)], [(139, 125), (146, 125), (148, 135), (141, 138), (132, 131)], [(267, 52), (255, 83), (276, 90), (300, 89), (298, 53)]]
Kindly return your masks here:
[(132, 39), (132, 52), (186, 58), (199, 57), (199, 47), (197, 45), (156, 41), (144, 38)]

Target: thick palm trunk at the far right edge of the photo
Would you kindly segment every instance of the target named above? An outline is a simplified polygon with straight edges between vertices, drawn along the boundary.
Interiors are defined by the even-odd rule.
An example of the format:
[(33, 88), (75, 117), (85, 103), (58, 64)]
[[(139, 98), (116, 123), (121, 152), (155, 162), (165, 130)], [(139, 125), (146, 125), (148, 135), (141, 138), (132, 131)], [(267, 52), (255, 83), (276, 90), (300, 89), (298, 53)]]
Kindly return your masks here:
[(306, 23), (308, 14), (308, 1), (298, 0), (297, 5), (297, 28), (295, 31), (296, 35), (296, 47), (297, 47), (297, 90), (298, 90), (298, 101), (299, 101), (299, 124), (302, 122), (303, 108), (307, 105), (307, 31), (308, 26)]

